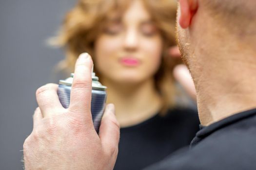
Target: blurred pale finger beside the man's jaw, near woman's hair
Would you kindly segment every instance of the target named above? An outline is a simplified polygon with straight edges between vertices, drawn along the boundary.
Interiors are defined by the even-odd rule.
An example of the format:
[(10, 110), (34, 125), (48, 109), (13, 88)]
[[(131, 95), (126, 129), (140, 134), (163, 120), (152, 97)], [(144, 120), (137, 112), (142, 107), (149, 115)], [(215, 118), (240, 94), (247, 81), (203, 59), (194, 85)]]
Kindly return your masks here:
[(185, 65), (177, 65), (174, 68), (173, 74), (177, 82), (179, 82), (190, 97), (196, 101), (196, 89), (188, 68)]

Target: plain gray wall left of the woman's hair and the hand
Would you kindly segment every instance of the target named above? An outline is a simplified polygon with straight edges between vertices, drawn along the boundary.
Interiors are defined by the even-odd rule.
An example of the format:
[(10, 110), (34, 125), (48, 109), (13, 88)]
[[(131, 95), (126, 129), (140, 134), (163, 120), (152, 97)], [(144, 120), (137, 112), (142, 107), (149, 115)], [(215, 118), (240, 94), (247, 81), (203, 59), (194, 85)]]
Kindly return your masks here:
[(22, 170), (32, 131), (35, 91), (63, 59), (45, 43), (76, 0), (0, 0), (0, 170)]

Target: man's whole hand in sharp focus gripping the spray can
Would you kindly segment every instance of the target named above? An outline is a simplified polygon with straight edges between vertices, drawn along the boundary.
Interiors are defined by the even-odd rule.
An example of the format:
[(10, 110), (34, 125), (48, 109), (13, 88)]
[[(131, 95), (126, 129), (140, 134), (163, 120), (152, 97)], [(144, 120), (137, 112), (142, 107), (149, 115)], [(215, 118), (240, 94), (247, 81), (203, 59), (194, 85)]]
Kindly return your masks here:
[(58, 85), (37, 90), (39, 107), (33, 131), (24, 142), (26, 170), (112, 170), (118, 154), (119, 124), (114, 105), (106, 107), (99, 135), (91, 115), (92, 68), (87, 53), (79, 56), (65, 109), (59, 102)]

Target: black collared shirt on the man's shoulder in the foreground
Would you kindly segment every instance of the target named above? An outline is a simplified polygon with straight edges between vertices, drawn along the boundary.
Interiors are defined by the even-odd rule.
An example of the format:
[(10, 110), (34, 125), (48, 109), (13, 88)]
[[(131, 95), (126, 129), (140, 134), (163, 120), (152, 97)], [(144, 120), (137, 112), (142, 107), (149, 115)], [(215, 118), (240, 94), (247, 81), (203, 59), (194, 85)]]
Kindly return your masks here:
[(190, 151), (178, 151), (145, 170), (256, 170), (256, 109), (203, 127)]

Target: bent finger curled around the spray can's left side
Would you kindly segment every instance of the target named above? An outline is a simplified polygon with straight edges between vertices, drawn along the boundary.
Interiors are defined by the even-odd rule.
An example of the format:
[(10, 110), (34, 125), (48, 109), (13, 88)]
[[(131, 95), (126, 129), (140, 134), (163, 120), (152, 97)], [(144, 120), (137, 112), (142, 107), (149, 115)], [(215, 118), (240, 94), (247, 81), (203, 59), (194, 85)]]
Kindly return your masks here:
[(57, 89), (58, 85), (47, 84), (37, 90), (37, 102), (43, 117), (51, 116), (54, 110), (63, 108), (59, 102)]

